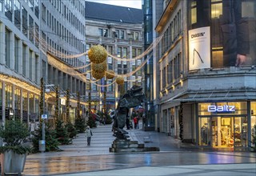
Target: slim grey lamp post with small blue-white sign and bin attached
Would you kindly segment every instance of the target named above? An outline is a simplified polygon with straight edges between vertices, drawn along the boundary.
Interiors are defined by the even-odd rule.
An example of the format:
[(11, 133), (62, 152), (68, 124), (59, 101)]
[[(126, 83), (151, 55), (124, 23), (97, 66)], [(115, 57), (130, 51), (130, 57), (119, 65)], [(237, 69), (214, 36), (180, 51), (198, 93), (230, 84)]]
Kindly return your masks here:
[(39, 140), (39, 150), (41, 152), (46, 151), (46, 125), (45, 125), (45, 119), (47, 119), (47, 114), (45, 111), (45, 93), (46, 92), (50, 92), (50, 89), (46, 89), (46, 87), (50, 87), (50, 86), (54, 86), (54, 84), (50, 84), (50, 85), (44, 85), (43, 86), (43, 92), (42, 92), (42, 140)]

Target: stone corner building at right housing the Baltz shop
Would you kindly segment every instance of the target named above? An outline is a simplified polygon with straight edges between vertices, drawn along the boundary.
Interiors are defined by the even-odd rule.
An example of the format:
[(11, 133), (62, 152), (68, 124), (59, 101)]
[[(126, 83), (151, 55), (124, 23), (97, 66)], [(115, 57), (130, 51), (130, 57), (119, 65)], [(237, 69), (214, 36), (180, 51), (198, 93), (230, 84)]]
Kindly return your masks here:
[[(164, 2), (155, 28), (159, 128), (196, 146), (247, 150), (256, 126), (256, 2)], [(157, 81), (157, 80), (156, 80)]]

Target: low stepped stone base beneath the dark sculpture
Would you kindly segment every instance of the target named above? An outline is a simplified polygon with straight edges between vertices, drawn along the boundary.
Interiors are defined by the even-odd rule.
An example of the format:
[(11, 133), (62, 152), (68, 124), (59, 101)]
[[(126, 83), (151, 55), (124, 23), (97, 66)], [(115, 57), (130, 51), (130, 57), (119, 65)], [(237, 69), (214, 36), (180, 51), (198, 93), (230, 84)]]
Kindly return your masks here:
[(139, 144), (138, 141), (130, 141), (129, 139), (115, 139), (110, 152), (125, 153), (125, 152), (143, 152), (143, 151), (159, 151), (158, 147), (145, 147), (144, 144)]

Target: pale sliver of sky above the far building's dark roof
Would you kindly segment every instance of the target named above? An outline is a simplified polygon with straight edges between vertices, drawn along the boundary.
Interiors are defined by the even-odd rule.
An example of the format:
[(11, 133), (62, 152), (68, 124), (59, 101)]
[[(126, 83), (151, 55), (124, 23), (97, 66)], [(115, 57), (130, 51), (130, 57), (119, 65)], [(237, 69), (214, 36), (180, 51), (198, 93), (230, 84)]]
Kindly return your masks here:
[(86, 0), (87, 2), (99, 2), (115, 6), (127, 6), (142, 9), (142, 0)]

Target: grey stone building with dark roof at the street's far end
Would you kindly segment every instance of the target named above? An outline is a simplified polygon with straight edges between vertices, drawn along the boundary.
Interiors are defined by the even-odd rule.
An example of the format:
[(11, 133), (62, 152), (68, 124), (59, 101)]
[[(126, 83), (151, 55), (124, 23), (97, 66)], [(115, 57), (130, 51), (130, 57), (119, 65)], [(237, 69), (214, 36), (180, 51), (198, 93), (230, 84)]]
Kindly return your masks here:
[[(122, 59), (135, 58), (143, 51), (142, 10), (123, 6), (113, 6), (96, 2), (86, 2), (86, 50), (91, 46), (102, 45), (107, 52)], [(86, 58), (86, 63), (89, 63)], [(142, 64), (142, 59), (136, 61), (118, 61), (107, 58), (108, 70), (115, 74), (125, 75), (133, 72)], [(129, 77), (124, 76), (122, 86), (113, 84), (114, 80), (102, 78), (98, 85), (106, 86), (106, 110), (114, 110), (118, 103), (120, 91), (129, 90), (133, 85), (142, 86), (142, 70)], [(93, 79), (93, 78), (92, 78)], [(95, 110), (102, 110), (104, 87), (91, 83), (93, 97), (99, 95)]]

